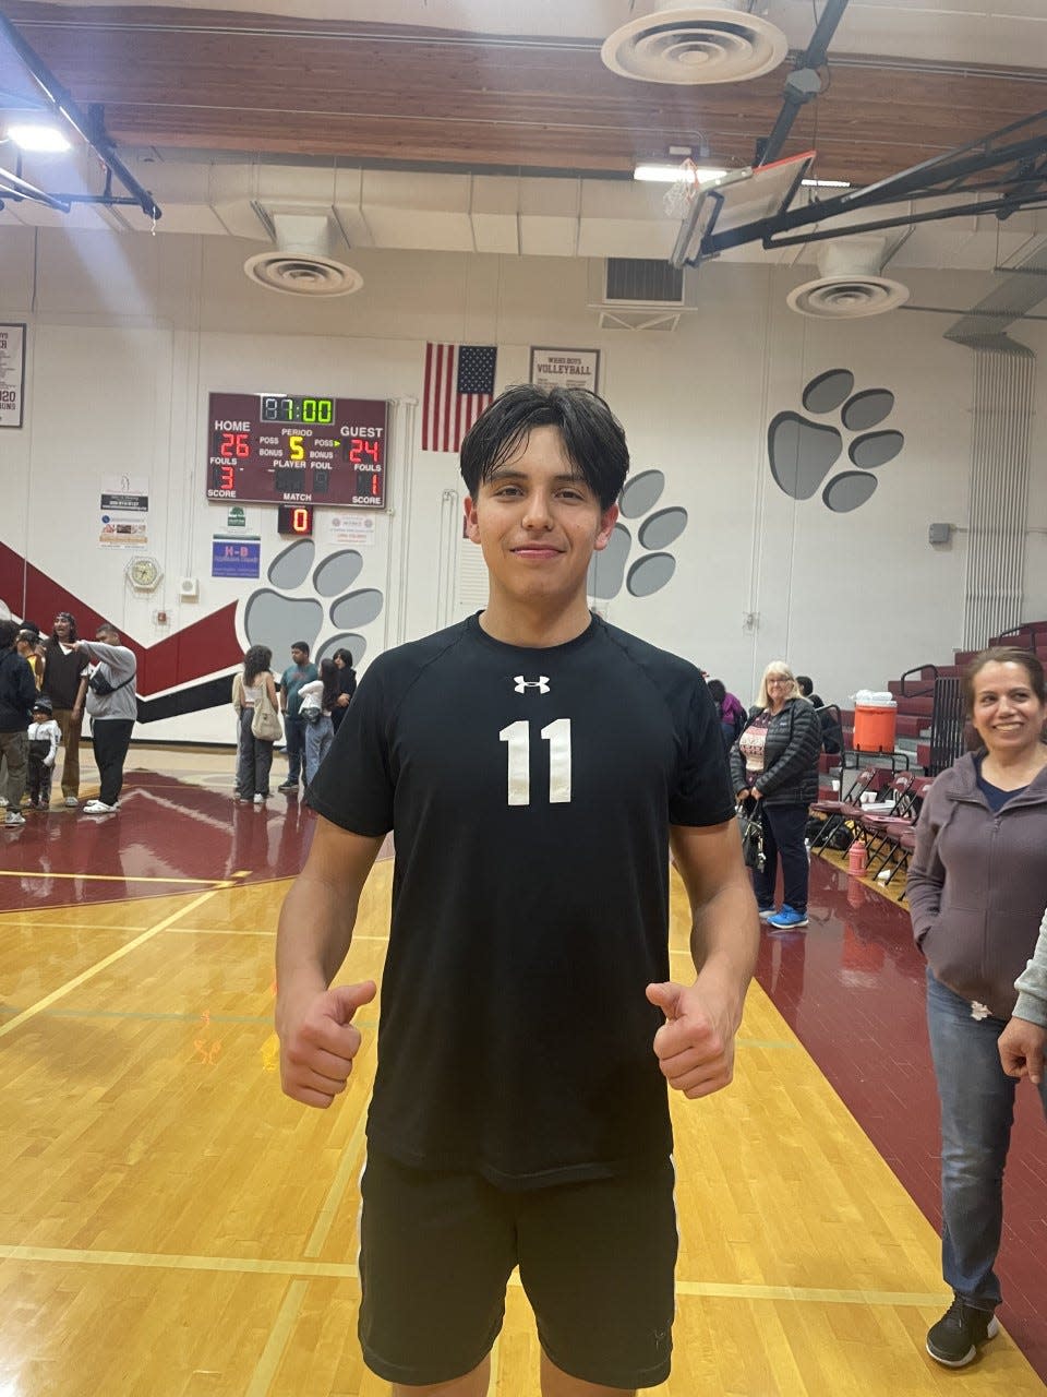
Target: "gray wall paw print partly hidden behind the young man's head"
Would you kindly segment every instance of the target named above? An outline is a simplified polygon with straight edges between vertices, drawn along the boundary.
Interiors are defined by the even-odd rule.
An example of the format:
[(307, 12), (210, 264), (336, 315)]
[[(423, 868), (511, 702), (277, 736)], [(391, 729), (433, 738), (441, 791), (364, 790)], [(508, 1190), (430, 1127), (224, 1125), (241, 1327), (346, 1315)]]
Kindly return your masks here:
[[(589, 563), (586, 591), (599, 601), (617, 597), (623, 585), (631, 597), (660, 592), (676, 571), (676, 559), (664, 552), (687, 528), (687, 510), (677, 506), (656, 510), (666, 478), (660, 471), (641, 471), (625, 482), (618, 496), (618, 522), (610, 542)], [(630, 563), (632, 531), (623, 520), (638, 520), (637, 543), (644, 553)]]

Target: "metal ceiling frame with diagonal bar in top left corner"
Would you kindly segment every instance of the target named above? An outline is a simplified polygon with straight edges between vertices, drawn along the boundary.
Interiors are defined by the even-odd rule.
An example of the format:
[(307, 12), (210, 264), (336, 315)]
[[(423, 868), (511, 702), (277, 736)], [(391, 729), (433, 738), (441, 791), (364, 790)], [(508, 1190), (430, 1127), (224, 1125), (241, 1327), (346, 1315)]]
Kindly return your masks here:
[[(71, 126), (84, 144), (95, 152), (106, 170), (105, 189), (101, 194), (49, 194), (22, 177), (22, 159), (20, 156), (14, 170), (0, 168), (0, 207), (3, 207), (6, 200), (28, 200), (68, 214), (74, 204), (101, 204), (105, 208), (130, 204), (141, 208), (145, 217), (154, 222), (161, 218), (162, 210), (152, 198), (152, 194), (142, 189), (134, 175), (131, 175), (116, 154), (116, 147), (106, 136), (102, 108), (91, 106), (84, 113), (47, 68), (43, 59), (29, 47), (4, 14), (0, 14), (0, 35), (7, 39), (43, 92), (43, 108), (53, 116), (60, 117), (67, 126)], [(113, 177), (120, 182), (127, 194), (113, 193)]]

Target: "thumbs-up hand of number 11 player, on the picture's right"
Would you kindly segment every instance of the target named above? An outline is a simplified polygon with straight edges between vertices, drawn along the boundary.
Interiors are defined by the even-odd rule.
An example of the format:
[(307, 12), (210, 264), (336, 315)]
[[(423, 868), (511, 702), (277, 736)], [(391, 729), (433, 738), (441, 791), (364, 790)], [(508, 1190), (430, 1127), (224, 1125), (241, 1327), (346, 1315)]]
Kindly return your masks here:
[(734, 1076), (734, 1032), (726, 1006), (702, 990), (667, 981), (648, 985), (648, 999), (666, 1016), (655, 1034), (663, 1077), (685, 1097), (708, 1097)]

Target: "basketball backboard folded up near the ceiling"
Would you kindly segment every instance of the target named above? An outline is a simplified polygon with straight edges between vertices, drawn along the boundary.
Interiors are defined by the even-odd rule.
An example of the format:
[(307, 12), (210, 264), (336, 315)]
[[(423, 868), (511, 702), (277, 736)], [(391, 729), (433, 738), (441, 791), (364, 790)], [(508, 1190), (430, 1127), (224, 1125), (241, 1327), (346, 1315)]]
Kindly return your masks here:
[(715, 256), (708, 246), (713, 233), (758, 224), (789, 208), (815, 155), (817, 151), (804, 151), (771, 165), (727, 170), (701, 182), (692, 177), (687, 169), (690, 162), (685, 162), (666, 200), (670, 212), (680, 217), (680, 233), (669, 258), (671, 265), (698, 267)]

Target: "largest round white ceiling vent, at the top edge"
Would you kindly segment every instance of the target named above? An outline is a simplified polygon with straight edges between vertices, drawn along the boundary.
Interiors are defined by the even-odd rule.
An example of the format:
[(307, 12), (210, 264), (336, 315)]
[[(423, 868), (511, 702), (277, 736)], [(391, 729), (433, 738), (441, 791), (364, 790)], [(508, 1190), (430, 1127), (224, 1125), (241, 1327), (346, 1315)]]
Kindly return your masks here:
[(641, 82), (745, 82), (776, 68), (789, 49), (780, 29), (748, 14), (744, 0), (659, 0), (604, 41), (611, 73)]

